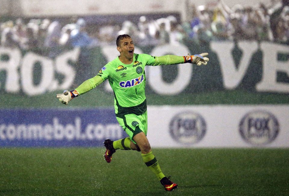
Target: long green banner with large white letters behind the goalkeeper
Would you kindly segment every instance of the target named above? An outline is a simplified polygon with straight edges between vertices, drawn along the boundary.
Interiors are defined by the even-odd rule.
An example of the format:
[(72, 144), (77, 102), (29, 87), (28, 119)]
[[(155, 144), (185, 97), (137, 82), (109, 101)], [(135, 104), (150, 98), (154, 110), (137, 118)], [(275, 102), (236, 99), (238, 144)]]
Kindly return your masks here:
[[(135, 45), (135, 53), (153, 56), (209, 53), (206, 66), (147, 66), (146, 95), (153, 99), (148, 104), (289, 103), (287, 45), (229, 41), (185, 43)], [(55, 107), (55, 100), (50, 101), (53, 94), (76, 88), (118, 54), (115, 46), (30, 51), (0, 47), (0, 107)], [(112, 105), (107, 103), (112, 92), (106, 82), (89, 94), (93, 98), (82, 97), (93, 99), (95, 104), (81, 101), (75, 105)], [(38, 106), (28, 99), (41, 99), (45, 103)]]

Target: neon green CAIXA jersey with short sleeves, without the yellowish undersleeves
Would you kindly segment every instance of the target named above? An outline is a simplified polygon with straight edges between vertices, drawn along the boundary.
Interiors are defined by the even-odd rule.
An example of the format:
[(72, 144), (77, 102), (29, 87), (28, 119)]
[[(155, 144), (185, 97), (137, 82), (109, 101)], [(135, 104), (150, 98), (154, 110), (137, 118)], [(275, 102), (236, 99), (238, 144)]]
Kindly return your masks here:
[(134, 54), (131, 64), (123, 64), (115, 58), (97, 74), (108, 79), (114, 93), (116, 114), (143, 114), (146, 111), (145, 65), (153, 65), (155, 57), (148, 54)]

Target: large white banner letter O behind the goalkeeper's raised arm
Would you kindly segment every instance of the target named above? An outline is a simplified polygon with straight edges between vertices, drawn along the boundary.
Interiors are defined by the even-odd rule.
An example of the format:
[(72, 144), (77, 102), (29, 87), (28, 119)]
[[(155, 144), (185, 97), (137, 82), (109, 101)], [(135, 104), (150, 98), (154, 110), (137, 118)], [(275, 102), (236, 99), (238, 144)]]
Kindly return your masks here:
[[(177, 50), (176, 50), (177, 48)], [(166, 54), (175, 54), (183, 56), (188, 54), (189, 49), (184, 45), (162, 45), (153, 49), (152, 56), (163, 56)], [(160, 66), (148, 66), (148, 84), (158, 94), (176, 95), (182, 92), (191, 82), (192, 66), (178, 65), (177, 77), (173, 82), (167, 83), (163, 81), (162, 70)], [(174, 73), (175, 75), (175, 73)]]

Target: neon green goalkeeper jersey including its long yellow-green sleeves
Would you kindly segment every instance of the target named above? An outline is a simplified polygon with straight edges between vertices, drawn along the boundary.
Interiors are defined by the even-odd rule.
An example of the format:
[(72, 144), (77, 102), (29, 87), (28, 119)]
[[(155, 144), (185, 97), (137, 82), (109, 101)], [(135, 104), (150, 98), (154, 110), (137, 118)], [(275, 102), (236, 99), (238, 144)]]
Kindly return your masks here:
[(97, 76), (86, 80), (75, 90), (82, 95), (108, 79), (114, 93), (117, 116), (141, 115), (147, 110), (144, 67), (184, 62), (184, 57), (176, 55), (154, 57), (149, 54), (134, 54), (131, 64), (123, 64), (117, 57), (102, 67)]

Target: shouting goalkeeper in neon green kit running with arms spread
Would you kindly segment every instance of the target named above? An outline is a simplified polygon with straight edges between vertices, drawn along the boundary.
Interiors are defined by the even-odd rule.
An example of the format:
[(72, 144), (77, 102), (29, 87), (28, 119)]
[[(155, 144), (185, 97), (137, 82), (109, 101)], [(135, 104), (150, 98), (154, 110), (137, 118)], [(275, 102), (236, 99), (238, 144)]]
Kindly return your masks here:
[(141, 157), (157, 176), (160, 183), (168, 191), (177, 188), (177, 184), (166, 177), (156, 157), (151, 151), (151, 146), (146, 137), (148, 132), (147, 101), (144, 94), (146, 65), (170, 65), (192, 63), (197, 65), (206, 65), (209, 59), (205, 56), (208, 53), (188, 56), (165, 55), (154, 57), (148, 54), (135, 54), (134, 43), (129, 35), (120, 35), (117, 37), (117, 50), (120, 56), (107, 63), (101, 68), (99, 73), (86, 81), (72, 91), (64, 91), (63, 94), (57, 94), (63, 104), (68, 104), (73, 98), (82, 95), (101, 84), (108, 79), (114, 93), (114, 107), (117, 121), (123, 130), (129, 135), (117, 141), (106, 139), (104, 146), (106, 152), (104, 158), (110, 163), (113, 153), (116, 150), (136, 150), (141, 152)]

